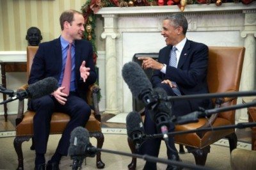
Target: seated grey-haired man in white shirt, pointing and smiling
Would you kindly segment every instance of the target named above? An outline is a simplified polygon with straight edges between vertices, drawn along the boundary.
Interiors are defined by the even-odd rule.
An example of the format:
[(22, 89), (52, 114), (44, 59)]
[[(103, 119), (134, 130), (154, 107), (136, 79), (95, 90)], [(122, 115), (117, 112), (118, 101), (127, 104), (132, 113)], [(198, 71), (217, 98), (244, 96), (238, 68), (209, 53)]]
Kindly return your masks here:
[[(167, 95), (192, 95), (209, 93), (206, 75), (208, 63), (208, 47), (203, 43), (193, 42), (186, 38), (188, 21), (182, 14), (175, 14), (163, 20), (163, 30), (166, 47), (159, 51), (158, 61), (152, 58), (143, 60), (144, 69), (153, 68), (151, 82), (154, 88), (163, 88)], [(182, 100), (172, 102), (172, 114), (182, 116), (198, 110), (198, 107), (211, 107), (210, 100)], [(145, 116), (145, 133), (157, 134), (159, 129), (148, 112)], [(169, 132), (174, 130), (173, 123), (169, 125)], [(141, 153), (158, 157), (161, 139), (150, 139), (141, 146)], [(169, 137), (167, 149), (168, 159), (180, 160), (174, 145), (173, 137)], [(156, 163), (146, 162), (144, 169), (157, 169)], [(166, 169), (180, 169), (168, 165)]]

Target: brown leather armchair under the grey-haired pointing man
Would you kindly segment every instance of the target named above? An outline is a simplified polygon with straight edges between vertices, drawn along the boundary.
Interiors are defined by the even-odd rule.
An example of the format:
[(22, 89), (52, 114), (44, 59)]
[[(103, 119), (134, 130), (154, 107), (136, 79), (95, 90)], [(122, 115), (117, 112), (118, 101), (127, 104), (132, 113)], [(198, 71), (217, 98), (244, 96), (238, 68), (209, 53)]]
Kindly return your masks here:
[[(210, 93), (223, 93), (239, 91), (241, 72), (243, 68), (244, 47), (209, 47), (209, 65), (207, 82)], [(221, 98), (221, 104), (215, 107), (235, 105), (236, 98)], [(215, 100), (212, 100), (216, 103)], [(208, 120), (200, 118), (197, 123), (176, 125), (175, 131), (186, 131), (205, 127), (220, 127), (235, 123), (235, 112), (227, 111), (212, 114)], [(237, 146), (237, 136), (234, 129), (217, 130), (211, 132), (198, 132), (191, 134), (175, 135), (175, 143), (184, 145), (189, 153), (193, 153), (196, 164), (205, 165), (207, 154), (210, 152), (210, 144), (219, 139), (227, 137), (230, 145), (230, 152)], [(128, 139), (132, 153), (135, 152), (132, 141)], [(129, 169), (136, 168), (136, 158), (132, 158)]]

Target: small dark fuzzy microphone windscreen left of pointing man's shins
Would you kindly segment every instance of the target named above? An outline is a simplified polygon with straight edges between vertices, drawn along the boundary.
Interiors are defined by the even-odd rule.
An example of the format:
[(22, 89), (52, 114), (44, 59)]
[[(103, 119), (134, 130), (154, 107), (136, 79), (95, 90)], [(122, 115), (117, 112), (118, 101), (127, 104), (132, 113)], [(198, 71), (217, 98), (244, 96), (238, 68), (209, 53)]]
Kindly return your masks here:
[(129, 112), (126, 117), (126, 129), (127, 135), (132, 138), (133, 132), (140, 132), (140, 134), (144, 134), (144, 127), (142, 123), (141, 116), (138, 112)]

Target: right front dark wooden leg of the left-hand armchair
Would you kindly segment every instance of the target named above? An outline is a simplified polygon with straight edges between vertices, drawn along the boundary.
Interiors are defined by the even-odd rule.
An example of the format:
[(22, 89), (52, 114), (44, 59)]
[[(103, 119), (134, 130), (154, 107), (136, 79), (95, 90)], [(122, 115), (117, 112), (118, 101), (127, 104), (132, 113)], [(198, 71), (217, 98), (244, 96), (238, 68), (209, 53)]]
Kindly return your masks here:
[[(97, 148), (102, 148), (103, 143), (104, 143), (104, 135), (102, 132), (93, 132), (92, 137), (95, 137), (97, 139)], [(101, 160), (101, 152), (99, 151), (96, 155), (96, 166), (98, 169), (102, 169), (105, 167), (104, 162)]]

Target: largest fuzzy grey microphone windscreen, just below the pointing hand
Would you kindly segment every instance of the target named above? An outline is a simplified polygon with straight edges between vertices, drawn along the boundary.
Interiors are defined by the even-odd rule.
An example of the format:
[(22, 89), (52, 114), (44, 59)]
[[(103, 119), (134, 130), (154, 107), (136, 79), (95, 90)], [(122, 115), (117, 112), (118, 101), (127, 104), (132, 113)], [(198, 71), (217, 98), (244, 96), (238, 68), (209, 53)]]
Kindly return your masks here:
[(152, 91), (152, 84), (138, 63), (125, 63), (122, 68), (122, 76), (134, 97), (141, 99), (139, 96), (144, 91)]

